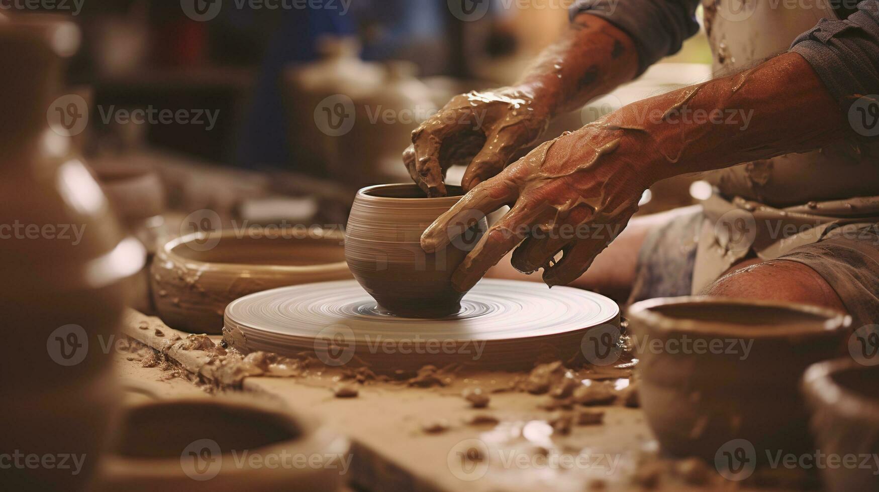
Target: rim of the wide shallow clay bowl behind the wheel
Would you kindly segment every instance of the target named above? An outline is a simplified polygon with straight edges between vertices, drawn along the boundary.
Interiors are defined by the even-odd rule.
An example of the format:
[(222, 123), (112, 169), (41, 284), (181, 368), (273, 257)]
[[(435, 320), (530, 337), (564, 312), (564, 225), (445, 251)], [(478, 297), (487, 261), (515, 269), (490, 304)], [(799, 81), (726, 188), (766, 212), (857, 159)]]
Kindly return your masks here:
[[(284, 232), (289, 231), (293, 232), (299, 230), (297, 228), (285, 228), (281, 229), (280, 234), (284, 234)], [(326, 231), (323, 229), (301, 229), (306, 231), (308, 236), (302, 238), (303, 240), (338, 240), (339, 242), (345, 241), (345, 236), (337, 231)], [(173, 262), (178, 264), (185, 264), (188, 268), (195, 268), (201, 271), (217, 271), (217, 270), (238, 270), (238, 271), (265, 271), (265, 272), (274, 272), (274, 273), (335, 273), (335, 272), (345, 272), (348, 271), (348, 264), (345, 262), (345, 259), (342, 259), (338, 262), (333, 263), (323, 263), (323, 264), (252, 264), (252, 263), (229, 263), (229, 262), (210, 262), (200, 259), (194, 259), (190, 257), (184, 257), (175, 252), (177, 248), (185, 247), (187, 242), (195, 242), (195, 241), (209, 241), (217, 239), (219, 241), (222, 240), (236, 240), (236, 239), (245, 239), (246, 237), (238, 237), (239, 233), (235, 230), (224, 229), (221, 231), (214, 232), (196, 232), (189, 235), (183, 235), (178, 238), (172, 239), (169, 242), (166, 242), (162, 247), (164, 254)], [(272, 239), (272, 238), (259, 238), (259, 239), (268, 239), (270, 241), (278, 241), (282, 240), (280, 238)], [(292, 241), (297, 241), (298, 238), (294, 238)]]

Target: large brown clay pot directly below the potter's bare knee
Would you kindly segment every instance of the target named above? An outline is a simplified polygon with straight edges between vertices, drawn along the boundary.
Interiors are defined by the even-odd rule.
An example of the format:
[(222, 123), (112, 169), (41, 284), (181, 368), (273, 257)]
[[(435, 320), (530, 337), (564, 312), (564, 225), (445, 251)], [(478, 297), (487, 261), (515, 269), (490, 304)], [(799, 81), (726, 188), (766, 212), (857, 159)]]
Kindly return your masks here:
[(682, 297), (636, 303), (628, 319), (641, 404), (666, 452), (713, 461), (733, 439), (746, 439), (764, 459), (766, 450), (810, 449), (800, 380), (809, 365), (845, 351), (849, 316)]

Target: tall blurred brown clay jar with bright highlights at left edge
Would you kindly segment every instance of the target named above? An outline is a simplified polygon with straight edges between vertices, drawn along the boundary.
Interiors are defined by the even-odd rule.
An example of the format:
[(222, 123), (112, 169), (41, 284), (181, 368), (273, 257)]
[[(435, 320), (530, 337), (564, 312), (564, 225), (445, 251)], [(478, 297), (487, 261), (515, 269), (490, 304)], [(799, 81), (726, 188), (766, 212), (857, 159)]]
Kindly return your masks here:
[(78, 42), (68, 21), (21, 15), (0, 23), (0, 224), (20, 227), (0, 239), (0, 396), (8, 402), (0, 436), (4, 452), (85, 455), (77, 474), (2, 470), (4, 488), (16, 490), (77, 490), (90, 477), (118, 399), (113, 343), (127, 279), (145, 257), (122, 233), (65, 127), (49, 127), (63, 94), (62, 58)]

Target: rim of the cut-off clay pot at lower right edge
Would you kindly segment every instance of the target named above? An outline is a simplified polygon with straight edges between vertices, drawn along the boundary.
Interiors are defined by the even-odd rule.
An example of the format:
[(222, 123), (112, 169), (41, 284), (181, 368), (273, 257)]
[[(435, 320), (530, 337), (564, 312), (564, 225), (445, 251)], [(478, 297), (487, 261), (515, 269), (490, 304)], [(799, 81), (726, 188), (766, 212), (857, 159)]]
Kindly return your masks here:
[(841, 416), (879, 422), (879, 398), (870, 398), (833, 379), (847, 372), (870, 370), (879, 372), (879, 367), (861, 365), (846, 358), (817, 362), (803, 374), (803, 394), (813, 403), (813, 407), (817, 404)]

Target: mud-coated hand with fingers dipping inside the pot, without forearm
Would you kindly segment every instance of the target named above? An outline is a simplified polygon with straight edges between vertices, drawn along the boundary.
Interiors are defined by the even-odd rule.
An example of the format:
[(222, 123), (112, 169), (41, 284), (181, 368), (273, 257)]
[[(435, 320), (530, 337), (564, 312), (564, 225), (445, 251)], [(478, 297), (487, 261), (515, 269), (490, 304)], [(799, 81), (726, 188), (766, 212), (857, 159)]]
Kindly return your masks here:
[(530, 91), (504, 88), (455, 96), (412, 132), (403, 162), (428, 196), (446, 196), (443, 179), (454, 164), (467, 165), (465, 191), (495, 176), (549, 123), (548, 110)]

